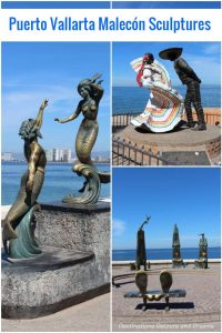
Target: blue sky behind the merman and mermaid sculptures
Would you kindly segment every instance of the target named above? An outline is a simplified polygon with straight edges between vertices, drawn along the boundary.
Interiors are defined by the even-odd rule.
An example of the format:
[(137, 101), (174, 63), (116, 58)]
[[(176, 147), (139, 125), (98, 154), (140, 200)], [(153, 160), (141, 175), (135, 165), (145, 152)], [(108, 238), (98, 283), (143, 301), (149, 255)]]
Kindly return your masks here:
[(80, 100), (80, 80), (102, 73), (104, 95), (99, 109), (99, 135), (93, 151), (109, 150), (110, 133), (110, 46), (78, 42), (2, 43), (2, 151), (22, 152), (18, 135), (21, 122), (34, 118), (43, 99), (42, 135), (44, 149), (69, 147), (82, 121), (59, 124), (54, 117), (70, 115)]

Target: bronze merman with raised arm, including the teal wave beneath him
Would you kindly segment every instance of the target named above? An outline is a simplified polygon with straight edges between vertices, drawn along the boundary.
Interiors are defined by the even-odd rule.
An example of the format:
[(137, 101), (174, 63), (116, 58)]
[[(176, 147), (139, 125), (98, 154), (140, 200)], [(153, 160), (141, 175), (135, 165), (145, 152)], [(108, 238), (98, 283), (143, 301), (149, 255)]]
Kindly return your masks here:
[(43, 110), (47, 105), (48, 101), (44, 100), (37, 119), (23, 121), (19, 130), (19, 135), (24, 140), (28, 170), (21, 178), (19, 193), (3, 225), (3, 245), (11, 258), (29, 258), (41, 253), (33, 235), (33, 212), (39, 208), (37, 198), (44, 181), (44, 167), (47, 164), (44, 150), (38, 142), (38, 137), (42, 138), (40, 129)]

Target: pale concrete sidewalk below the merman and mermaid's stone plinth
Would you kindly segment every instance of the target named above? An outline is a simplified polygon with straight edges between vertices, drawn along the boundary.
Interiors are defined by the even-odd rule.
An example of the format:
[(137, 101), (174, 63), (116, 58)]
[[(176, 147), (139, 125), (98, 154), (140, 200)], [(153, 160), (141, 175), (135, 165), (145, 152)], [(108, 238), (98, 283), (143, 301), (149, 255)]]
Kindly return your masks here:
[(110, 293), (32, 320), (2, 320), (1, 332), (109, 332)]

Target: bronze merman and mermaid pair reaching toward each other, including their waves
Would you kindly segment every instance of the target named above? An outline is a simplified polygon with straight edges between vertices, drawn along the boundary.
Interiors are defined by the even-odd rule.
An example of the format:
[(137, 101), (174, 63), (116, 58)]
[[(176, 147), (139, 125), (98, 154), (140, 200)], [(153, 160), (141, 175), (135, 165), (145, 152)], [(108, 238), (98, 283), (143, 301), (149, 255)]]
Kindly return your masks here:
[[(78, 85), (78, 92), (82, 97), (77, 110), (67, 119), (59, 120), (64, 123), (74, 120), (81, 112), (83, 120), (77, 134), (75, 152), (79, 159), (72, 168), (78, 175), (85, 178), (80, 195), (69, 195), (63, 202), (73, 204), (94, 204), (99, 200), (101, 183), (110, 182), (109, 173), (98, 172), (91, 161), (91, 150), (98, 137), (99, 124), (97, 121), (99, 103), (103, 95), (102, 81), (97, 80), (101, 74), (92, 79), (82, 80)], [(16, 201), (9, 210), (2, 231), (6, 252), (10, 258), (30, 258), (41, 253), (34, 240), (34, 214), (39, 209), (37, 199), (44, 181), (44, 167), (47, 158), (44, 150), (38, 142), (42, 138), (40, 129), (42, 125), (43, 110), (48, 105), (44, 100), (39, 109), (37, 119), (23, 121), (19, 135), (24, 140), (24, 157), (28, 170), (21, 178), (21, 185)]]

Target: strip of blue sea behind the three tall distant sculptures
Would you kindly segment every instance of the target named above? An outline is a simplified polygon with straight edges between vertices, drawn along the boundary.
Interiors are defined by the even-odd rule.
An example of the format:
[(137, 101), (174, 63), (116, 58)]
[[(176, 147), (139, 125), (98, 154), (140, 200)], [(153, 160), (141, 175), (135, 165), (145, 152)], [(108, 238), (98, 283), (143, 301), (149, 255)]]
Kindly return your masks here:
[[(221, 248), (209, 248), (209, 259), (220, 259)], [(172, 249), (147, 249), (148, 260), (171, 260)], [(199, 256), (198, 248), (181, 249), (182, 259), (196, 259)], [(113, 261), (135, 261), (137, 250), (112, 250)]]

